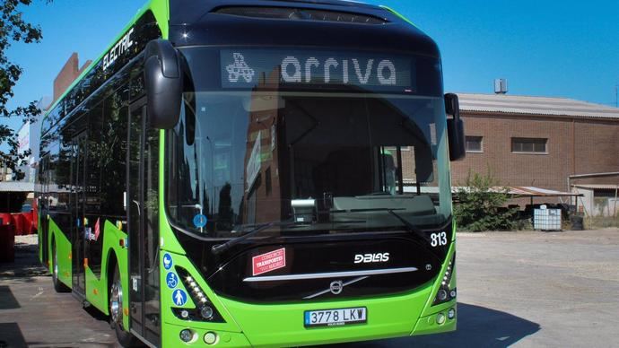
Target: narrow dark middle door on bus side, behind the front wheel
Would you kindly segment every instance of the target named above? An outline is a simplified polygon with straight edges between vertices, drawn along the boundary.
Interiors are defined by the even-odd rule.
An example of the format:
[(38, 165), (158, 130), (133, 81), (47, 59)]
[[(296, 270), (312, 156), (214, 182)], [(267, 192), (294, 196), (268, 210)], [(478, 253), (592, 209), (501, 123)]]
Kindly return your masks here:
[(74, 224), (71, 230), (71, 254), (73, 264), (73, 291), (84, 295), (85, 274), (83, 266), (85, 236), (84, 236), (84, 217), (85, 217), (85, 182), (86, 182), (86, 149), (88, 148), (88, 136), (86, 132), (76, 135), (73, 138), (73, 157), (72, 157), (72, 190), (71, 201), (73, 206)]

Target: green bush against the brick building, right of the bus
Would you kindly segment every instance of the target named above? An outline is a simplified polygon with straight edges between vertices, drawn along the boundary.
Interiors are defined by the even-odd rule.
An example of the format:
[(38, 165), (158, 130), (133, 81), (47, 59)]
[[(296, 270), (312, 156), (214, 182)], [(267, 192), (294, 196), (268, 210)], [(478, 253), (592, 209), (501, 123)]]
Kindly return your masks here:
[(454, 215), (458, 228), (466, 231), (514, 230), (518, 226), (516, 210), (504, 205), (509, 200), (507, 190), (490, 171), (485, 175), (469, 171), (463, 187), (456, 193)]

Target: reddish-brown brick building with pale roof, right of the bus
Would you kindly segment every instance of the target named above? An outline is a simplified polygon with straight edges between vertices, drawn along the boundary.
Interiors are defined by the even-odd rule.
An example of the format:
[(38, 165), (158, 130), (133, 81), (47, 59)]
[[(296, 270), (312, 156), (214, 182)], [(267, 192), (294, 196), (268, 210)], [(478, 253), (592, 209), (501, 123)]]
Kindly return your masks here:
[[(619, 171), (619, 109), (562, 98), (458, 96), (467, 153), (451, 164), (454, 186), (469, 170), (492, 170), (502, 186), (570, 191), (571, 175)], [(617, 185), (619, 176), (578, 184)]]

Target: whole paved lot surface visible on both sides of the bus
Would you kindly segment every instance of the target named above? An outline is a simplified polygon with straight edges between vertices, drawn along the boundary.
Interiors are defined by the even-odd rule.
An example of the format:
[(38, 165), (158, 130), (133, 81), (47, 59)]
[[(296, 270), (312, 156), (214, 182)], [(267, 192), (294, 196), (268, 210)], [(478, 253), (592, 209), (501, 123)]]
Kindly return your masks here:
[[(0, 264), (0, 348), (112, 347), (107, 318), (57, 294), (16, 244)], [(458, 331), (352, 347), (619, 347), (619, 230), (458, 234)]]

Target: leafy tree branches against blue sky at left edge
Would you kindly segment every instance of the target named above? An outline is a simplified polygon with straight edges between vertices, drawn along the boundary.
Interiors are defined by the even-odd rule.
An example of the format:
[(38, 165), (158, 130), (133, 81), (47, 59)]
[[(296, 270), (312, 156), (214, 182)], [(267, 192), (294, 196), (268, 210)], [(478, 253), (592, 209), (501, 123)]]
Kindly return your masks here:
[[(51, 0), (46, 0), (50, 3)], [(26, 44), (40, 42), (43, 38), (39, 26), (25, 22), (18, 6), (28, 6), (32, 0), (2, 0), (0, 2), (0, 117), (22, 117), (24, 122), (35, 119), (40, 114), (36, 101), (28, 106), (7, 109), (6, 103), (13, 98), (13, 87), (22, 76), (22, 67), (6, 57), (6, 51), (13, 43)], [(17, 173), (17, 178), (23, 177), (17, 167), (25, 164), (29, 152), (18, 153), (17, 135), (8, 126), (0, 125), (0, 145), (6, 144), (8, 152), (0, 152), (0, 165), (6, 166)]]

